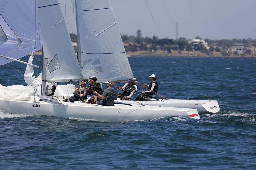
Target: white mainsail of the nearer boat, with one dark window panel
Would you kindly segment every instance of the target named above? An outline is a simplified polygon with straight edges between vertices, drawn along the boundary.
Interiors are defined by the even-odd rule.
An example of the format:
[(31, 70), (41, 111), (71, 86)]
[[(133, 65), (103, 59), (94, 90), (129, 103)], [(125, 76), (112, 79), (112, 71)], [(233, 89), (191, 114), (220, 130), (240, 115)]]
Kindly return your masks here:
[(38, 0), (47, 82), (83, 79), (58, 0)]

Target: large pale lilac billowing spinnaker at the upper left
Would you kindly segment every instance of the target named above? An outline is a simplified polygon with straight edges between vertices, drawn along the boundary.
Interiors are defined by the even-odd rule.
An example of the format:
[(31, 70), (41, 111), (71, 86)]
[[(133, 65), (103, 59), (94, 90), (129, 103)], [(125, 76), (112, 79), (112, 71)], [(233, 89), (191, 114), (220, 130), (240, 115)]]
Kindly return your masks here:
[[(1, 44), (6, 46), (0, 48), (0, 54), (19, 59), (30, 54), (33, 50), (42, 48), (36, 1), (0, 0), (0, 5), (3, 7), (1, 8), (3, 19), (21, 41), (21, 43), (16, 41), (11, 45), (11, 43), (7, 43), (7, 40), (7, 42)], [(4, 28), (3, 30), (5, 31)], [(16, 37), (13, 38), (17, 39)], [(9, 62), (12, 62), (12, 60), (0, 58), (0, 65)]]

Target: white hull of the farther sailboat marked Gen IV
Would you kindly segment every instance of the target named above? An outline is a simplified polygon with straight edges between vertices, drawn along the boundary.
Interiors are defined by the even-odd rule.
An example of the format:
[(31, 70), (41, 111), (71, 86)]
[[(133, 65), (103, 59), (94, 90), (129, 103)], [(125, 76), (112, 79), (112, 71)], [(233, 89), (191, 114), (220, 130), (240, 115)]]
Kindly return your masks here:
[[(159, 99), (150, 101), (137, 101), (139, 103), (148, 104), (150, 106), (178, 107), (178, 108), (194, 108), (199, 114), (212, 114), (220, 111), (218, 101), (216, 100), (180, 100), (180, 99)], [(129, 100), (116, 100), (115, 103), (139, 104)]]

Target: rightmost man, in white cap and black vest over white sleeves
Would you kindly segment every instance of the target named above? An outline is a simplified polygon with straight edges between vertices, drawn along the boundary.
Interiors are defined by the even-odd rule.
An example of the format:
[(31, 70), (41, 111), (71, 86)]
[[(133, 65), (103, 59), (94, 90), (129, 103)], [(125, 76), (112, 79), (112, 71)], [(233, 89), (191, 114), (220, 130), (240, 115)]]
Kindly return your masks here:
[(151, 81), (151, 83), (148, 85), (147, 83), (145, 83), (144, 85), (148, 87), (148, 91), (142, 91), (142, 95), (137, 96), (135, 98), (135, 100), (151, 100), (152, 98), (155, 97), (155, 94), (157, 93), (157, 89), (158, 89), (158, 84), (155, 81), (156, 80), (156, 75), (152, 74), (151, 76), (149, 76), (149, 79)]

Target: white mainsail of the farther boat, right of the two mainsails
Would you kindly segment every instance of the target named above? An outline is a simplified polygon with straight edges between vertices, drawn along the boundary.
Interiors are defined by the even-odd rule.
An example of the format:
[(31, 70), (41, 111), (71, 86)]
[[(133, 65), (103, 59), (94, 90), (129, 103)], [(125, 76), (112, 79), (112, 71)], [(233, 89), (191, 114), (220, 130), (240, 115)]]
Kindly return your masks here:
[(133, 73), (109, 0), (76, 0), (82, 73), (97, 81), (127, 80)]

